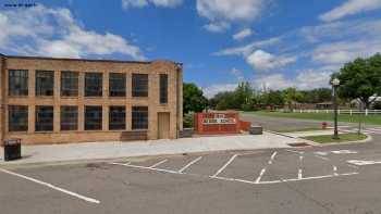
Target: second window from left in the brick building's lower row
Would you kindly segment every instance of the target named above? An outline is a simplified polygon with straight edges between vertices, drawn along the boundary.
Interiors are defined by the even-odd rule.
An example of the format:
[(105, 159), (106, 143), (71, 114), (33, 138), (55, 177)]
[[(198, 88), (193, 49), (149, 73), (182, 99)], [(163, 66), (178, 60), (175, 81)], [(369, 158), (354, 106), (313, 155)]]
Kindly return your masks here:
[(36, 131), (51, 131), (53, 130), (54, 112), (53, 106), (37, 105), (36, 106)]

